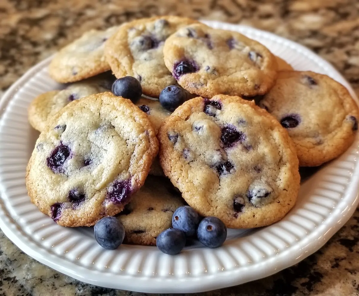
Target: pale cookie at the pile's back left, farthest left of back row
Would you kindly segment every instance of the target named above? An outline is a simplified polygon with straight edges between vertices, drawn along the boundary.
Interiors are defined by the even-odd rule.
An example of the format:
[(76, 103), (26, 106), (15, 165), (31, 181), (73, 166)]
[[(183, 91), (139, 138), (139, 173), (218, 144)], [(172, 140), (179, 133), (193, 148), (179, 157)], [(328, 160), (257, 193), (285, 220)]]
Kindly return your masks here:
[(80, 81), (110, 69), (103, 54), (104, 43), (119, 26), (90, 30), (55, 54), (48, 67), (50, 76), (60, 83)]

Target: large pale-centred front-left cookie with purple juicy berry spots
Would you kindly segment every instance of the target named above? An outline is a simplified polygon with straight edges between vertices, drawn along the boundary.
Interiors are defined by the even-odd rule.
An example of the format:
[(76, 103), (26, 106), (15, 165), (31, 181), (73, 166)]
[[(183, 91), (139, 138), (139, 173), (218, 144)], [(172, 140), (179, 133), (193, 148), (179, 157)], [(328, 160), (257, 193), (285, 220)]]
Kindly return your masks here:
[(89, 226), (123, 209), (144, 184), (158, 140), (148, 117), (105, 92), (57, 112), (36, 141), (26, 186), (63, 226)]

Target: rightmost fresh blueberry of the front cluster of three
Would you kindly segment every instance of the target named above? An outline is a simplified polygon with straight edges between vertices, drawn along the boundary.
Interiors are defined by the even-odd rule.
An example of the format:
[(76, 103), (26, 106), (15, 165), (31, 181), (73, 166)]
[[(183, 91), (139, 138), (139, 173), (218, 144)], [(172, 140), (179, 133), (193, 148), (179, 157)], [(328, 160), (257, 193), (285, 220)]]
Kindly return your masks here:
[(227, 238), (227, 227), (216, 217), (206, 217), (198, 226), (197, 236), (206, 247), (218, 248)]

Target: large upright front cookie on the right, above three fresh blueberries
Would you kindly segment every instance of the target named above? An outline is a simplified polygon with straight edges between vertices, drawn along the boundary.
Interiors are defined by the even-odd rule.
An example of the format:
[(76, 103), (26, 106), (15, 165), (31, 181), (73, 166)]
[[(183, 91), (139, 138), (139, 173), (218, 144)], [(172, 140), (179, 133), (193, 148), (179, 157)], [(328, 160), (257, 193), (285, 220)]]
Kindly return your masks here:
[(160, 162), (186, 202), (229, 228), (272, 224), (293, 207), (298, 158), (269, 113), (240, 97), (197, 97), (160, 128)]

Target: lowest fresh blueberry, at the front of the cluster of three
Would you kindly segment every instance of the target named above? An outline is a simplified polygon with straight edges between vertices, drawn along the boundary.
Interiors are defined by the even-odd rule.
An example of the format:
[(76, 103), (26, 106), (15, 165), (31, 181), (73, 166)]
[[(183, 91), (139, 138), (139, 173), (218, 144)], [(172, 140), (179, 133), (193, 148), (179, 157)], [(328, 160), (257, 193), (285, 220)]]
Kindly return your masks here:
[(186, 244), (186, 234), (175, 228), (168, 228), (161, 232), (156, 239), (157, 248), (169, 255), (180, 253)]

